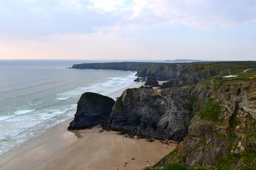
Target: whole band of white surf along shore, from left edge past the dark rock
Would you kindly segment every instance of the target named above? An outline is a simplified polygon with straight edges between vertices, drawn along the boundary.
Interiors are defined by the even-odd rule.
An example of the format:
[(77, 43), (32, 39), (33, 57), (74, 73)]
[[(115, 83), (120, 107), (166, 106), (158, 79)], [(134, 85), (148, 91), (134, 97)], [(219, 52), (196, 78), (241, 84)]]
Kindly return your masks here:
[(49, 127), (74, 116), (77, 105), (73, 105), (72, 103), (64, 105), (64, 103), (72, 102), (72, 99), (79, 98), (84, 92), (108, 95), (122, 88), (126, 88), (134, 79), (134, 72), (122, 77), (106, 78), (105, 82), (98, 82), (91, 86), (77, 87), (73, 90), (56, 94), (56, 98), (53, 97), (53, 100), (59, 100), (56, 105), (41, 107), (40, 109), (20, 109), (14, 111), (14, 115), (12, 116), (1, 116), (0, 156), (32, 137), (43, 133)]

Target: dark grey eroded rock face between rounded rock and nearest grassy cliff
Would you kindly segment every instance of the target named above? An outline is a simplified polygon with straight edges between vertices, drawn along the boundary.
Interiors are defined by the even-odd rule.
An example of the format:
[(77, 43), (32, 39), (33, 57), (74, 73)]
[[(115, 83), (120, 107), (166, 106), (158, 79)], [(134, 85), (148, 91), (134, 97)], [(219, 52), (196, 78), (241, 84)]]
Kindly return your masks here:
[(117, 99), (110, 114), (110, 128), (142, 138), (181, 141), (187, 134), (198, 99), (209, 97), (200, 86), (171, 89), (128, 89)]

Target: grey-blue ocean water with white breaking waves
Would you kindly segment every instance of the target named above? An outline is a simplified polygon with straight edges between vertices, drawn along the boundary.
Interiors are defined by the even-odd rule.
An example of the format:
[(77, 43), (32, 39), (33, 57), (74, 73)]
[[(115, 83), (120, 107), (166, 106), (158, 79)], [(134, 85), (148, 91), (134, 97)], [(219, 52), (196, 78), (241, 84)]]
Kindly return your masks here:
[(130, 71), (66, 69), (85, 62), (0, 60), (0, 156), (72, 118), (82, 93), (109, 95), (135, 79)]

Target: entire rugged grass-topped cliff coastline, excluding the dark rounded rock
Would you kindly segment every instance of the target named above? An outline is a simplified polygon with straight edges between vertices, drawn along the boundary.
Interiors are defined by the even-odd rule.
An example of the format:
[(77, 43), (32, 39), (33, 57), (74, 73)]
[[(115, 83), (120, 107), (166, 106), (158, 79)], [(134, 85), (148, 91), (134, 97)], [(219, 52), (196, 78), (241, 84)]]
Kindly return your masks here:
[(182, 141), (148, 169), (256, 167), (256, 62), (74, 67), (130, 70), (170, 80), (160, 89), (125, 90), (102, 123), (131, 137)]

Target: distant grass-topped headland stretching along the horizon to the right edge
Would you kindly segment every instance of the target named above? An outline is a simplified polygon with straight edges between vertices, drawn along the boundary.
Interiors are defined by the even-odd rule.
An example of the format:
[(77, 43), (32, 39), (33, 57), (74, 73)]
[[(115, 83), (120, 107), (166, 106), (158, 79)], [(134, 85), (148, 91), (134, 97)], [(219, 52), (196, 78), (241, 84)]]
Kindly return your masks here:
[[(149, 63), (149, 62), (116, 62), (116, 63), (82, 63), (72, 66), (73, 69), (114, 69), (137, 71), (137, 76), (146, 77), (154, 74), (157, 80), (167, 80), (164, 88), (184, 86), (201, 82), (212, 76), (253, 75), (256, 61), (208, 62), (208, 63)], [(235, 76), (230, 76), (230, 78)]]

